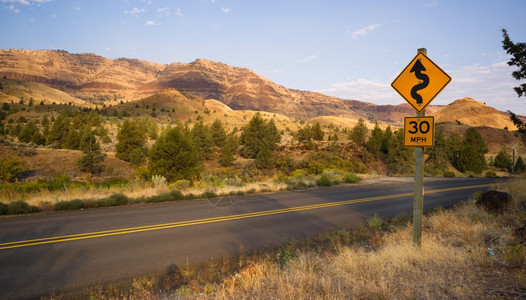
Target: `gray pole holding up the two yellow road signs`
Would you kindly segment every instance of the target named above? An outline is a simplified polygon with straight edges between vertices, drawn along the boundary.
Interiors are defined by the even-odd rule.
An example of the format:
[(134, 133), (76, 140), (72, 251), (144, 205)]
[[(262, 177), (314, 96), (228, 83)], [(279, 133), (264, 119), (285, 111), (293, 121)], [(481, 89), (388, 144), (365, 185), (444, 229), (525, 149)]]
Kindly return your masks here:
[[(418, 49), (427, 55), (426, 48)], [(424, 117), (425, 109), (417, 112), (417, 117)], [(415, 147), (415, 191), (413, 199), (413, 245), (422, 244), (422, 210), (424, 208), (424, 147)]]

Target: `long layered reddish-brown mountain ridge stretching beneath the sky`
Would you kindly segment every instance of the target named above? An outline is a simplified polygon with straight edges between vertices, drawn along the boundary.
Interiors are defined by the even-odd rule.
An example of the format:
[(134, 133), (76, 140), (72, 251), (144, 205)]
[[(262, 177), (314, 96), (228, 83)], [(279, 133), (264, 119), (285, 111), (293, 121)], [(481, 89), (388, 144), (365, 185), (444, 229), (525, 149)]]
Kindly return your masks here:
[[(163, 65), (61, 50), (0, 50), (1, 77), (43, 84), (71, 97), (98, 104), (139, 101), (166, 89), (176, 89), (203, 99), (218, 100), (234, 110), (267, 111), (305, 120), (321, 116), (351, 120), (364, 118), (373, 123), (379, 121), (401, 126), (404, 117), (415, 115), (407, 104), (375, 105), (288, 89), (250, 69), (205, 59)], [(3, 98), (0, 90), (0, 100)], [(438, 118), (441, 109), (441, 106), (430, 105), (426, 111), (428, 115), (437, 113), (437, 122), (440, 122), (438, 120), (447, 119)], [(500, 112), (495, 110), (491, 115), (494, 113)], [(454, 113), (442, 115), (453, 116)], [(480, 117), (480, 113), (477, 116)], [(467, 121), (460, 121), (467, 124)], [(484, 124), (493, 126), (488, 125), (493, 123)], [(501, 125), (496, 126), (501, 128)]]

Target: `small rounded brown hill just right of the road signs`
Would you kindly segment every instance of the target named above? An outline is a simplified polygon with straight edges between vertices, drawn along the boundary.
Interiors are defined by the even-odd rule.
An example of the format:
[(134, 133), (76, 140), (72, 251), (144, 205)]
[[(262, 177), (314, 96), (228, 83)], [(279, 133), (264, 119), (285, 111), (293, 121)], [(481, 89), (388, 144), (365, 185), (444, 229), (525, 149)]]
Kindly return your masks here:
[(517, 129), (506, 114), (472, 98), (455, 100), (432, 115), (435, 123), (460, 122), (474, 127)]

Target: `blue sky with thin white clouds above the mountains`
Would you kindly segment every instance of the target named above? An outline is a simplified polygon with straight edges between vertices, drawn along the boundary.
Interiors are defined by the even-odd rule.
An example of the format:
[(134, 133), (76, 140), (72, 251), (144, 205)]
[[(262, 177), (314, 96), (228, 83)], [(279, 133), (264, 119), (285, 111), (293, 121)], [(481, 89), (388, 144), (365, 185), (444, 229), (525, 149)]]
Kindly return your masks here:
[(416, 55), (451, 83), (432, 104), (472, 97), (526, 115), (505, 28), (526, 42), (525, 0), (0, 0), (0, 48), (62, 49), (157, 63), (205, 58), (287, 88), (375, 104)]

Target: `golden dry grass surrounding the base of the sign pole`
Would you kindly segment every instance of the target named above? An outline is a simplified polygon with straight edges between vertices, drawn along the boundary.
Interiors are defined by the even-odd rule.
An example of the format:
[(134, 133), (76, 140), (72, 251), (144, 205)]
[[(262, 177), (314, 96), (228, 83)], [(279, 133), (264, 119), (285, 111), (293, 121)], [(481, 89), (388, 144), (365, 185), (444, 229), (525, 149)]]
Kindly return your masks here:
[[(506, 186), (524, 202), (524, 179)], [(502, 187), (505, 189), (504, 187)], [(376, 247), (347, 245), (338, 251), (298, 251), (284, 267), (272, 259), (244, 268), (201, 295), (217, 299), (481, 299), (524, 297), (526, 257), (510, 264), (503, 250), (516, 245), (512, 223), (525, 224), (512, 207), (488, 214), (471, 200), (426, 217), (422, 247), (412, 227), (374, 237)], [(496, 249), (491, 256), (488, 248)], [(516, 247), (517, 248), (517, 247)]]

